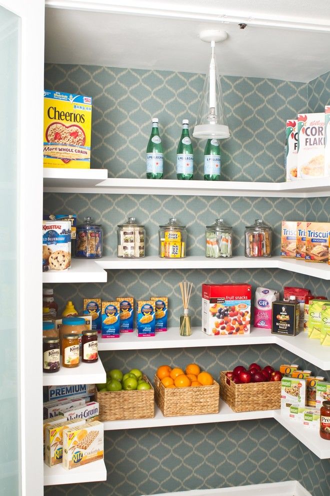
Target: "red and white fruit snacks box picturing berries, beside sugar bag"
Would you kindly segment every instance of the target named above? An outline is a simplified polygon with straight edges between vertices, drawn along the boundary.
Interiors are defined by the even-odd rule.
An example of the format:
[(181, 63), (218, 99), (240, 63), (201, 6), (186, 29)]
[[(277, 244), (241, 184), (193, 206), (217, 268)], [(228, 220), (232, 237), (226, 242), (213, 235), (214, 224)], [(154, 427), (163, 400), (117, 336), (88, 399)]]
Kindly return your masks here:
[(203, 284), (201, 296), (201, 325), (205, 334), (249, 334), (250, 284)]

